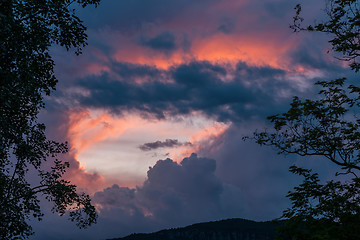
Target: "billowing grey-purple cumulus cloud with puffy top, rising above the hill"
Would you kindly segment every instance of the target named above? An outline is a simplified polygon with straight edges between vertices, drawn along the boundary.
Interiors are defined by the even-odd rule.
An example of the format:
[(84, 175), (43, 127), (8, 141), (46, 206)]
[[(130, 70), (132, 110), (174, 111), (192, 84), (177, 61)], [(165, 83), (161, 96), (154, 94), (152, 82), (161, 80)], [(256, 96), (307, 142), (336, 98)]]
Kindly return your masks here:
[[(95, 193), (93, 200), (102, 206), (100, 217), (121, 210), (126, 218), (142, 215), (140, 218), (150, 218), (164, 227), (244, 213), (240, 190), (220, 181), (215, 170), (215, 160), (196, 154), (180, 164), (159, 160), (148, 171), (143, 186), (130, 189), (114, 185)], [(230, 194), (236, 204), (226, 198)]]

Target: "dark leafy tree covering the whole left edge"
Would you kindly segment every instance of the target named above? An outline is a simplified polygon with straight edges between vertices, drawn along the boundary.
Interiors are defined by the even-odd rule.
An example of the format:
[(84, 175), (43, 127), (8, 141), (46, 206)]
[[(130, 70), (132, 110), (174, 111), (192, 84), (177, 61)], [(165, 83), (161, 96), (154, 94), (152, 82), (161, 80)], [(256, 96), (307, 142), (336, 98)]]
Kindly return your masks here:
[[(32, 234), (28, 220), (41, 219), (39, 194), (54, 203), (60, 215), (80, 227), (96, 221), (89, 196), (62, 179), (69, 163), (57, 159), (66, 143), (48, 140), (37, 120), (43, 97), (55, 90), (54, 61), (49, 48), (60, 45), (80, 54), (86, 27), (74, 5), (100, 0), (0, 0), (0, 238), (23, 239)], [(54, 164), (45, 164), (50, 158)], [(37, 173), (39, 184), (29, 182)], [(33, 177), (32, 177), (33, 178)]]

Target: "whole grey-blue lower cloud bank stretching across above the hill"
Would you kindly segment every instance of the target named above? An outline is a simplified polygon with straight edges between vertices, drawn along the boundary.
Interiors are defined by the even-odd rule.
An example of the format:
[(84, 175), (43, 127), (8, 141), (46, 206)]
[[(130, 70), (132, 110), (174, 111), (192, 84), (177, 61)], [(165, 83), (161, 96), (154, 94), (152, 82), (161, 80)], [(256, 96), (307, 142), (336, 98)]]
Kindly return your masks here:
[[(257, 124), (233, 124), (207, 143), (204, 140), (198, 151), (206, 157), (192, 154), (180, 163), (159, 160), (141, 186), (113, 184), (97, 191), (92, 199), (100, 211), (99, 221), (90, 229), (79, 231), (64, 218), (47, 214), (46, 224), (35, 224), (39, 234), (34, 239), (95, 240), (223, 218), (279, 217), (289, 206), (287, 191), (301, 180), (288, 172), (288, 166), (304, 161), (243, 142), (242, 136)], [(329, 174), (326, 162), (316, 162), (307, 167)], [(66, 232), (61, 231), (64, 228)]]

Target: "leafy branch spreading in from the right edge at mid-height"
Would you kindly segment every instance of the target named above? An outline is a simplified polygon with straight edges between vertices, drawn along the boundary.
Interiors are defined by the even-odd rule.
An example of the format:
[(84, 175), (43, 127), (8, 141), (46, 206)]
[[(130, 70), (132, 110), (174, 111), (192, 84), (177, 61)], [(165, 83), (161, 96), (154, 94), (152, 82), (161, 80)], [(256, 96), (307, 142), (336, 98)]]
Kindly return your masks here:
[(355, 174), (360, 170), (360, 88), (345, 88), (344, 82), (317, 82), (323, 89), (316, 100), (294, 97), (286, 113), (268, 117), (275, 132), (255, 132), (256, 142), (274, 146), (279, 154), (324, 156)]

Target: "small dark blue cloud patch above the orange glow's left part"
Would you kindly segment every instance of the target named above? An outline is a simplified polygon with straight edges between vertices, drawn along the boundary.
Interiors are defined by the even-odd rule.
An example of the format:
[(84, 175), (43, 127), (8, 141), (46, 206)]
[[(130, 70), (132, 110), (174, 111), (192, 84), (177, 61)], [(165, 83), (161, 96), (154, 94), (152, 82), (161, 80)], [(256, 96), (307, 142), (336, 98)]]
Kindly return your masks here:
[(176, 49), (175, 35), (168, 31), (149, 39), (142, 37), (140, 43), (154, 50), (171, 51)]

